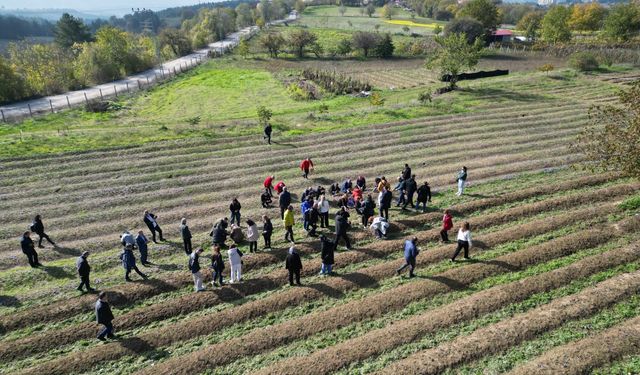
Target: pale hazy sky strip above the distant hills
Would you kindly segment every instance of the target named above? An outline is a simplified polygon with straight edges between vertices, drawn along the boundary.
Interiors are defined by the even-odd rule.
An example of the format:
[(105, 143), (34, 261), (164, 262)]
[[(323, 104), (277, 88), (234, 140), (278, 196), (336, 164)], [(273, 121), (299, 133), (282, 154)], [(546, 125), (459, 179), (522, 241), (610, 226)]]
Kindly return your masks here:
[(202, 2), (220, 0), (0, 0), (0, 7), (5, 9), (75, 9), (86, 13), (104, 13), (131, 10), (131, 8), (147, 8), (161, 10), (182, 5), (195, 5)]

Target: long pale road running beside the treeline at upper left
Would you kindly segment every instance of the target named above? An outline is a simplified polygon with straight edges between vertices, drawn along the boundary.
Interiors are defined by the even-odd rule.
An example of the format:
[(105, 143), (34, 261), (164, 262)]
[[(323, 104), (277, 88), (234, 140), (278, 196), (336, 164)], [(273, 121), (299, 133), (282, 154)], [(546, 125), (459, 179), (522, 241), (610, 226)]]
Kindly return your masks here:
[[(273, 21), (270, 24), (278, 24), (296, 19), (295, 14), (290, 14), (286, 19)], [(23, 102), (16, 102), (0, 106), (0, 120), (9, 122), (17, 121), (29, 116), (43, 115), (57, 112), (71, 107), (84, 105), (87, 101), (114, 97), (128, 92), (148, 88), (158, 82), (171, 78), (186, 70), (206, 61), (210, 54), (221, 55), (240, 43), (243, 37), (251, 37), (258, 33), (257, 26), (246, 27), (232, 33), (226, 39), (211, 43), (206, 48), (194, 53), (168, 61), (157, 68), (126, 77), (125, 79), (104, 83), (83, 90), (70, 91), (60, 95), (46, 96)]]

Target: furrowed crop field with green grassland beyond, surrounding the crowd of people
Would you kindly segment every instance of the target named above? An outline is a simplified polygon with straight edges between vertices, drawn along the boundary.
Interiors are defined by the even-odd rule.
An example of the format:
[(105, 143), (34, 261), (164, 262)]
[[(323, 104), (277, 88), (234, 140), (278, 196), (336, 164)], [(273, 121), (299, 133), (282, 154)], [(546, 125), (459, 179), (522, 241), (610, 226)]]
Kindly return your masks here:
[[(353, 32), (342, 18), (337, 7), (312, 7), (301, 25), (278, 29), (307, 26), (331, 43)], [(344, 18), (382, 21), (356, 8)], [(640, 182), (574, 168), (584, 155), (569, 147), (589, 110), (615, 104), (637, 69), (582, 74), (541, 54), (487, 55), (479, 69), (511, 73), (421, 103), (420, 93), (443, 85), (422, 57), (271, 59), (251, 46), (246, 58), (211, 60), (109, 112), (0, 127), (0, 373), (640, 373)], [(549, 62), (556, 70), (536, 71)], [(366, 80), (384, 103), (328, 92), (296, 100), (286, 82), (306, 68)], [(258, 105), (273, 111), (273, 145)], [(309, 180), (298, 167), (305, 157), (315, 163)], [(335, 275), (318, 275), (303, 190), (363, 175), (375, 199), (374, 178), (395, 180), (405, 163), (433, 189), (426, 212), (394, 205), (388, 239), (378, 240), (351, 210), (353, 249), (340, 244)], [(469, 186), (458, 197), (462, 165)], [(288, 283), (279, 210), (260, 205), (268, 175), (294, 196), (302, 286)], [(272, 249), (262, 239), (256, 253), (240, 244), (243, 281), (213, 287), (209, 231), (236, 197), (243, 220), (273, 219)], [(331, 225), (319, 232), (331, 237), (330, 200)], [(145, 209), (167, 241), (150, 244), (152, 264), (140, 266), (148, 280), (125, 282), (118, 237), (147, 231)], [(449, 262), (455, 243), (439, 241), (445, 209), (453, 239), (471, 224), (470, 260)], [(36, 213), (59, 246), (39, 249), (44, 267), (32, 269), (19, 237)], [(205, 249), (202, 293), (181, 218)], [(397, 276), (413, 236), (417, 277)], [(118, 338), (105, 343), (96, 340), (96, 295), (76, 290), (83, 251), (115, 315)]]

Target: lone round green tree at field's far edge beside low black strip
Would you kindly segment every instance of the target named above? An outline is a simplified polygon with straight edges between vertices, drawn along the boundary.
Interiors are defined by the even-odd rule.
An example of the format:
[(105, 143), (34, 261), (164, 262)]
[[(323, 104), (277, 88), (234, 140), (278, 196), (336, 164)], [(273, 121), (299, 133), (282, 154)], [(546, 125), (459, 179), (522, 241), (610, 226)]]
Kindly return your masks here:
[(437, 36), (435, 41), (438, 49), (427, 60), (427, 67), (438, 69), (443, 76), (449, 75), (449, 87), (455, 88), (458, 75), (463, 70), (473, 69), (478, 64), (482, 54), (482, 41), (476, 39), (473, 44), (469, 44), (464, 33), (453, 33), (445, 37)]

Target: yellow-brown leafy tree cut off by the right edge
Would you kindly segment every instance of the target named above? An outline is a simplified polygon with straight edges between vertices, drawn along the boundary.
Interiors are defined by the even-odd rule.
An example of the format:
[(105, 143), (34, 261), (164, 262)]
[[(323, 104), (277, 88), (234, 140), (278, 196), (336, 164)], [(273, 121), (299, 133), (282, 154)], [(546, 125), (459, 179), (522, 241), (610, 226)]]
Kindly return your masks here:
[(589, 125), (572, 146), (592, 170), (640, 177), (640, 83), (619, 94), (619, 105), (592, 108)]

